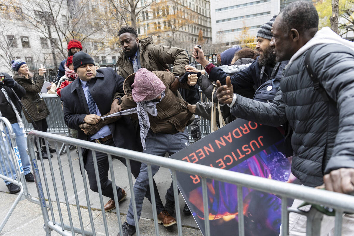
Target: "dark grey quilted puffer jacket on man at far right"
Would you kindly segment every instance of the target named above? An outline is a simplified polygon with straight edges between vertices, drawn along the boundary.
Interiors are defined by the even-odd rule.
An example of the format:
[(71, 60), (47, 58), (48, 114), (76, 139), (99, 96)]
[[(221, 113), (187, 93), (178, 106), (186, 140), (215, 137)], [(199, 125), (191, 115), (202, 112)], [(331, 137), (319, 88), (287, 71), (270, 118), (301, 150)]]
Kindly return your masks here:
[(312, 51), (310, 66), (330, 97), (327, 102), (305, 69), (307, 52), (286, 68), (273, 103), (237, 96), (231, 112), (271, 126), (288, 120), (292, 173), (304, 185), (318, 186), (331, 170), (354, 168), (354, 52), (340, 44), (322, 44)]

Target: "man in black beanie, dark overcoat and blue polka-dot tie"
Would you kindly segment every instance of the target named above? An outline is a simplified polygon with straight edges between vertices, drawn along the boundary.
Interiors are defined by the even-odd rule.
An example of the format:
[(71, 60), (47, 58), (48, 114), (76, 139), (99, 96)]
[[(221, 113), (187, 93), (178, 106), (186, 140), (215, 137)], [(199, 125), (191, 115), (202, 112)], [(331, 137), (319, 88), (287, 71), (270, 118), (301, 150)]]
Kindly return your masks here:
[[(74, 80), (61, 90), (66, 125), (78, 131), (78, 139), (134, 151), (142, 151), (140, 137), (136, 137), (134, 126), (129, 117), (122, 116), (119, 120), (104, 126), (93, 135), (86, 135), (79, 128), (79, 125), (84, 122), (94, 125), (101, 119), (101, 114), (109, 113), (115, 93), (124, 94), (124, 78), (115, 73), (112, 68), (103, 68), (96, 71), (95, 62), (85, 52), (74, 54), (73, 65), (79, 79)], [(119, 97), (117, 99), (120, 100)], [(84, 149), (82, 157), (89, 177), (90, 189), (98, 192), (92, 150)], [(112, 157), (126, 165), (124, 158), (118, 156)], [(102, 194), (111, 198), (104, 206), (104, 210), (110, 211), (115, 208), (115, 202), (113, 200), (112, 182), (108, 179), (109, 165), (107, 154), (96, 152), (96, 158)], [(130, 163), (131, 172), (137, 178), (141, 162), (131, 160)], [(156, 208), (163, 208), (155, 182), (154, 189)], [(124, 200), (127, 196), (124, 189), (116, 186), (116, 190), (119, 202)], [(149, 188), (145, 196), (151, 202)]]

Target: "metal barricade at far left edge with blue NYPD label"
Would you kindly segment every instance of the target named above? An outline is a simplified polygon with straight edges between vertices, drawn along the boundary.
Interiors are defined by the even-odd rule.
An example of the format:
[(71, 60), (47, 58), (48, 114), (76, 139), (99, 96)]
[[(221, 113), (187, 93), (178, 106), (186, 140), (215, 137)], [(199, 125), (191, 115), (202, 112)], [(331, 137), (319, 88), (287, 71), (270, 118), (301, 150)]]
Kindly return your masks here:
[[(39, 204), (39, 201), (33, 199), (31, 197), (31, 194), (29, 194), (28, 192), (26, 179), (24, 177), (23, 168), (21, 164), (21, 157), (19, 155), (16, 144), (16, 134), (13, 132), (10, 122), (2, 116), (0, 116), (0, 136), (0, 178), (19, 186), (21, 189), (18, 196), (16, 197), (15, 202), (13, 202), (4, 220), (2, 220), (1, 222), (1, 232), (19, 201), (25, 198), (37, 204)], [(13, 169), (15, 170), (15, 172), (13, 172)]]

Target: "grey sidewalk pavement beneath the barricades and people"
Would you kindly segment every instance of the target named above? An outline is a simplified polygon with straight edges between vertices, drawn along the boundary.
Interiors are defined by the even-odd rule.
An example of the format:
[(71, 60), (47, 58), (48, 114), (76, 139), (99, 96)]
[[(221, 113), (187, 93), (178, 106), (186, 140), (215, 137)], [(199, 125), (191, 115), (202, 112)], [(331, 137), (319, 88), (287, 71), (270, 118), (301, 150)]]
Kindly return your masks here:
[[(53, 144), (51, 144), (52, 147), (54, 147)], [(59, 146), (60, 147), (60, 146)], [(82, 214), (82, 219), (83, 219), (83, 225), (85, 227), (85, 230), (91, 231), (91, 225), (90, 225), (90, 220), (89, 220), (89, 215), (88, 215), (88, 210), (87, 210), (87, 202), (85, 198), (85, 190), (84, 190), (84, 183), (81, 177), (81, 172), (80, 172), (80, 167), (79, 167), (79, 159), (78, 159), (78, 154), (76, 154), (75, 149), (70, 150), (70, 159), (72, 160), (73, 163), (73, 170), (74, 170), (74, 177), (75, 177), (75, 182), (76, 182), (76, 189), (78, 192), (78, 198), (79, 198), (79, 206), (80, 206), (80, 211)], [(75, 196), (74, 196), (74, 190), (73, 190), (73, 184), (72, 184), (72, 179), (70, 175), (70, 170), (69, 170), (69, 164), (68, 164), (68, 155), (64, 153), (63, 155), (60, 156), (60, 160), (62, 163), (62, 169), (63, 169), (63, 179), (64, 181), (62, 182), (61, 180), (61, 175), (59, 172), (59, 167), (58, 167), (58, 160), (56, 153), (53, 153), (53, 158), (52, 164), (53, 164), (53, 173), (55, 176), (55, 181), (52, 181), (51, 177), (51, 172), (50, 168), (48, 165), (48, 160), (43, 161), (43, 167), (45, 169), (45, 175), (47, 178), (48, 182), (48, 189), (50, 192), (51, 196), (51, 201), (52, 205), (54, 208), (54, 215), (55, 215), (55, 220), (57, 222), (60, 222), (59, 220), (59, 215), (57, 214), (57, 201), (60, 202), (60, 208), (63, 214), (64, 218), (64, 224), (69, 225), (68, 219), (68, 211), (67, 207), (65, 204), (65, 198), (64, 198), (64, 192), (63, 192), (63, 186), (65, 186), (65, 189), (67, 190), (68, 193), (68, 202), (70, 205), (70, 213), (73, 218), (74, 222), (74, 227), (80, 228), (80, 222), (78, 218), (78, 210), (76, 207), (76, 201), (75, 201)], [(39, 169), (40, 169), (40, 175), (41, 175), (41, 181), (44, 187), (44, 194), (45, 198), (48, 199), (47, 192), (45, 189), (44, 185), (44, 177), (42, 174), (42, 167), (40, 161), (37, 162)], [(130, 188), (129, 188), (129, 180), (128, 180), (128, 175), (127, 175), (127, 168), (118, 160), (113, 160), (113, 166), (114, 166), (114, 174), (115, 174), (115, 181), (116, 184), (119, 185), (121, 188), (125, 189), (127, 192), (128, 196), (125, 201), (120, 203), (120, 213), (121, 213), (121, 222), (124, 222), (126, 220), (126, 214), (128, 211), (129, 207), (129, 202), (130, 202)], [(86, 173), (86, 172), (85, 172)], [(110, 174), (108, 175), (109, 179)], [(87, 176), (86, 176), (87, 179)], [(166, 168), (160, 168), (158, 173), (154, 177), (156, 184), (158, 186), (162, 202), (165, 203), (165, 193), (166, 190), (170, 187), (171, 184), (171, 174), (168, 169)], [(0, 180), (1, 181), (1, 180)], [(135, 179), (133, 177), (133, 182), (135, 182)], [(58, 199), (55, 198), (54, 190), (53, 190), (53, 183), (56, 184), (56, 187), (58, 189)], [(88, 183), (88, 180), (87, 180)], [(32, 197), (38, 198), (37, 190), (35, 183), (27, 183), (28, 186), (28, 191), (32, 195)], [(0, 206), (1, 206), (1, 211), (0, 211), (0, 221), (2, 221), (8, 211), (10, 209), (10, 206), (12, 203), (15, 201), (17, 195), (12, 195), (8, 194), (8, 189), (5, 185), (5, 183), (0, 184)], [(101, 212), (101, 205), (99, 202), (99, 196), (98, 193), (93, 192), (92, 190), (89, 189), (89, 197), (90, 197), (90, 205), (92, 208), (92, 214), (93, 214), (93, 219), (95, 222), (95, 229), (96, 229), (96, 234), (97, 235), (105, 235), (105, 230), (103, 226), (103, 220), (102, 220), (102, 212)], [(108, 197), (103, 197), (103, 202), (104, 204), (109, 200)], [(181, 208), (181, 213), (183, 211), (184, 207), (184, 199), (182, 195), (179, 195), (179, 202), (180, 202), (180, 208)], [(51, 212), (48, 213), (51, 219)], [(108, 229), (109, 229), (109, 235), (117, 235), (118, 234), (118, 219), (117, 215), (114, 211), (111, 211), (109, 213), (106, 213), (107, 217), (107, 224), (108, 224)], [(144, 199), (144, 204), (143, 204), (143, 209), (142, 209), (142, 214), (141, 214), (141, 220), (139, 221), (139, 226), (140, 226), (140, 232), (141, 235), (155, 235), (155, 228), (154, 228), (154, 221), (152, 220), (153, 215), (152, 215), (152, 205), (150, 202), (147, 200), (147, 198)], [(182, 229), (183, 229), (183, 235), (188, 235), (188, 236), (201, 236), (201, 232), (198, 228), (198, 226), (195, 223), (195, 220), (193, 219), (192, 215), (186, 217), (181, 214), (182, 218)], [(28, 200), (22, 200), (19, 202), (17, 207), (15, 208), (15, 211), (11, 215), (9, 221), (5, 225), (5, 228), (2, 230), (0, 235), (6, 235), (6, 236), (18, 236), (18, 235), (23, 235), (25, 232), (25, 235), (30, 236), (30, 235), (45, 235), (43, 228), (43, 218), (41, 215), (41, 209), (39, 205), (36, 205), (35, 203), (29, 202)], [(162, 225), (159, 225), (159, 232), (161, 236), (172, 236), (172, 235), (178, 235), (177, 231), (177, 226), (173, 225), (171, 227), (164, 227)], [(52, 232), (52, 235), (59, 235), (56, 234), (55, 232)]]

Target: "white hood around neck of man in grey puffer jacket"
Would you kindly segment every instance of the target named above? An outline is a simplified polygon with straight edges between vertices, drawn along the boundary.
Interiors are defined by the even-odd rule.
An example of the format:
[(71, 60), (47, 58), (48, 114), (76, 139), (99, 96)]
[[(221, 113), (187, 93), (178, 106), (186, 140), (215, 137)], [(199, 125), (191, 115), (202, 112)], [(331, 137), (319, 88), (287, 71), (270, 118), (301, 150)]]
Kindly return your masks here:
[[(354, 51), (354, 42), (342, 39), (341, 36), (332, 31), (329, 27), (324, 27), (317, 31), (315, 36), (310, 39), (304, 46), (302, 46), (290, 59), (289, 64), (295, 61), (296, 58), (301, 56), (304, 52), (317, 44), (341, 44), (349, 47)], [(288, 65), (289, 65), (288, 64)]]

